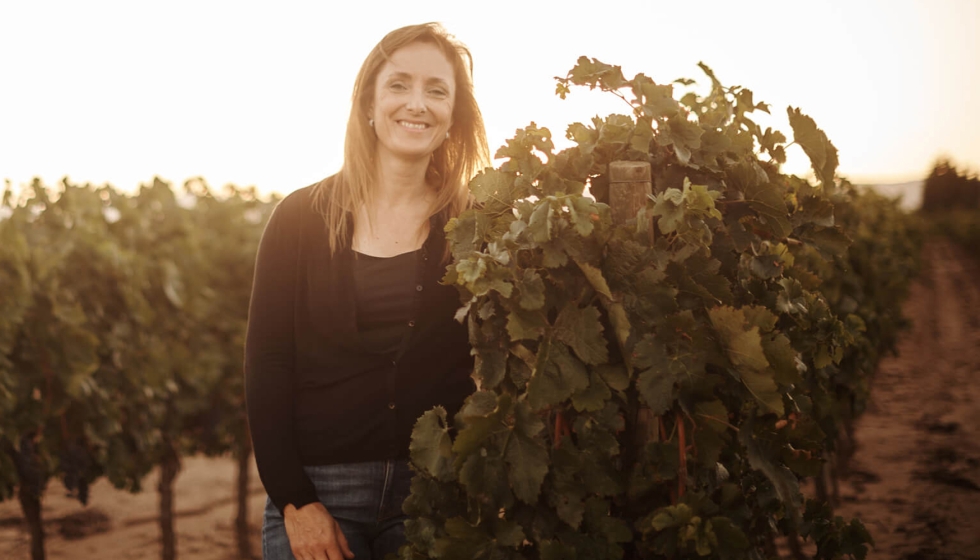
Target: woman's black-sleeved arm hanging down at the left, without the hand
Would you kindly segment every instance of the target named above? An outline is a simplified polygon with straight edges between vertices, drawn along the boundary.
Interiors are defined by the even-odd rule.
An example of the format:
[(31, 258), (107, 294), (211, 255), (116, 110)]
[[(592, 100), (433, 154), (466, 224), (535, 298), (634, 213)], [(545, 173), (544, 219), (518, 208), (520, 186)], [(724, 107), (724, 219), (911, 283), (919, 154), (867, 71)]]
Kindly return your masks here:
[(280, 512), (317, 502), (293, 431), (293, 314), (299, 260), (299, 213), (288, 196), (259, 242), (245, 337), (245, 401), (259, 478)]

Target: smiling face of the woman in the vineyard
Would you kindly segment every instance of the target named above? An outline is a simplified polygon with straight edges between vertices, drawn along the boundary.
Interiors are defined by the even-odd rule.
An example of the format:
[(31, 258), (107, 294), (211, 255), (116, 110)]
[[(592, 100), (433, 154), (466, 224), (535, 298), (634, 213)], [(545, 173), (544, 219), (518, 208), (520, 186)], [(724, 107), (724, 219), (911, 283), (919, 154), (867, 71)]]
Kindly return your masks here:
[(395, 51), (374, 87), (378, 155), (427, 159), (446, 139), (455, 99), (453, 67), (438, 47), (412, 43)]

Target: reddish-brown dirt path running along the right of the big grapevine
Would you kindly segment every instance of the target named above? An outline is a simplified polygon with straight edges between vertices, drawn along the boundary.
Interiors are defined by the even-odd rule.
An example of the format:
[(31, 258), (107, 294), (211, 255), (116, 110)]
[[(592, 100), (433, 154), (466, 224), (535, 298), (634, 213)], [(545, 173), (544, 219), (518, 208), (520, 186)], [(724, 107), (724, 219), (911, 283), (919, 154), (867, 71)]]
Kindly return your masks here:
[(980, 267), (927, 243), (898, 356), (886, 357), (838, 513), (860, 517), (878, 560), (980, 559)]

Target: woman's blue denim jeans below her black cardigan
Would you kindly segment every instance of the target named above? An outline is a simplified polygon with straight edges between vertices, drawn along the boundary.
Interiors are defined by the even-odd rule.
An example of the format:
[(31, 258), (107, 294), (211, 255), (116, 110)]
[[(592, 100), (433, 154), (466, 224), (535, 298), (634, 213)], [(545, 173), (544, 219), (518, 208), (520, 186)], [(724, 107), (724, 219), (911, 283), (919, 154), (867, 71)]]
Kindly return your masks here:
[[(405, 542), (402, 502), (412, 471), (408, 461), (372, 461), (304, 467), (317, 496), (337, 520), (356, 560), (381, 560)], [(264, 560), (295, 560), (282, 514), (266, 499)]]

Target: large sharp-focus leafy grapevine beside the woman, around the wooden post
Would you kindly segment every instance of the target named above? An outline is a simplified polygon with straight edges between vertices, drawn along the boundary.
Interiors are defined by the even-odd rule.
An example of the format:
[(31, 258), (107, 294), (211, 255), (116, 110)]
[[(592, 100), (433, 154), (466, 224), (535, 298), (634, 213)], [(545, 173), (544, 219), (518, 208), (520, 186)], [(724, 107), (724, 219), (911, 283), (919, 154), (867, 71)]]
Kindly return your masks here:
[[(631, 113), (570, 125), (557, 153), (532, 123), (470, 183), (444, 282), (479, 391), (415, 426), (402, 558), (766, 558), (777, 537), (866, 556), (863, 526), (800, 481), (902, 326), (915, 240), (893, 201), (836, 178), (812, 119), (787, 110), (790, 143), (752, 120), (768, 106), (750, 90), (701, 68), (710, 93), (675, 99), (690, 80), (583, 57), (557, 93), (599, 88)], [(780, 172), (794, 145), (816, 184)], [(652, 174), (624, 223), (617, 161)], [(892, 229), (863, 229), (876, 222)]]

